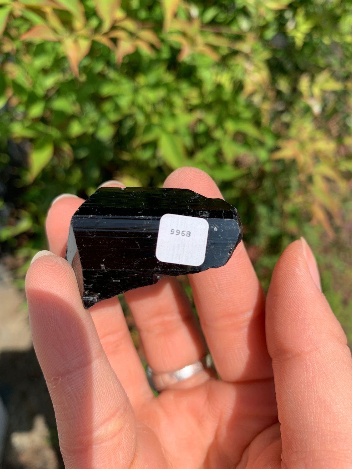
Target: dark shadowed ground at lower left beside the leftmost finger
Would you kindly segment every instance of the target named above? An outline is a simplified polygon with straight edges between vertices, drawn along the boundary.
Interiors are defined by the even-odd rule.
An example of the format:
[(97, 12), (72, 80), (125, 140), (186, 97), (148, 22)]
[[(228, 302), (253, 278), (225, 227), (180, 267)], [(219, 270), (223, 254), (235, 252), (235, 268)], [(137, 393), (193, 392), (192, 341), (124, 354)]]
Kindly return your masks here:
[[(49, 443), (59, 461), (58, 469), (64, 469), (53, 404), (33, 348), (0, 354), (0, 396), (8, 411), (8, 431), (1, 469), (27, 469), (27, 465), (16, 461), (10, 448), (9, 435), (13, 432), (31, 431), (38, 415), (44, 416), (49, 429)], [(40, 461), (37, 462), (36, 468), (51, 469)]]

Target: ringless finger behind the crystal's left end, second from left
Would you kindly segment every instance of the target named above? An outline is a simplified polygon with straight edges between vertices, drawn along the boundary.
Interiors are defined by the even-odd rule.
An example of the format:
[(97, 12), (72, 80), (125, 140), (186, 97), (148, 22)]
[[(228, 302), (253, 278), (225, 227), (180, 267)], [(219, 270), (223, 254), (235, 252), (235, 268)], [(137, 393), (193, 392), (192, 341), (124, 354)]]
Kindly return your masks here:
[[(110, 181), (107, 184), (121, 187), (119, 182)], [(65, 256), (70, 220), (83, 202), (83, 199), (75, 196), (61, 197), (54, 200), (49, 209), (46, 218), (46, 233), (50, 249), (58, 256)], [(94, 305), (89, 312), (113, 370), (132, 405), (138, 407), (153, 394), (117, 297)]]

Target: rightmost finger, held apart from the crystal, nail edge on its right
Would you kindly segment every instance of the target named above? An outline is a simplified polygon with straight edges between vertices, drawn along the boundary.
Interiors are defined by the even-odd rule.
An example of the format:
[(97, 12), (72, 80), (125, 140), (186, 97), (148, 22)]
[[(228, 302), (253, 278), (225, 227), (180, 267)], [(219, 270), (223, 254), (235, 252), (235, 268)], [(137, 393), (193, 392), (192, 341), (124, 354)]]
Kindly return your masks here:
[(304, 240), (280, 257), (266, 303), (286, 469), (351, 464), (352, 360)]

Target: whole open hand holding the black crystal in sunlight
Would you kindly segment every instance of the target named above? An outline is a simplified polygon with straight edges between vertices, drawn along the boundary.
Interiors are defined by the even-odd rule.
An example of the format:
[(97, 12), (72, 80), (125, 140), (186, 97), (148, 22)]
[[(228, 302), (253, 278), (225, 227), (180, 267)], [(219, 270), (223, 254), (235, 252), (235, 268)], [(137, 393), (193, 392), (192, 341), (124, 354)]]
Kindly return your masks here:
[[(175, 171), (165, 187), (221, 197), (194, 168)], [(38, 257), (26, 277), (67, 469), (352, 468), (351, 354), (303, 239), (280, 257), (266, 302), (242, 242), (223, 267), (190, 275), (222, 380), (203, 371), (155, 398), (117, 297), (84, 310), (62, 258), (82, 202), (71, 196), (52, 205), (46, 231), (54, 255)], [(126, 299), (154, 370), (204, 356), (175, 278)]]

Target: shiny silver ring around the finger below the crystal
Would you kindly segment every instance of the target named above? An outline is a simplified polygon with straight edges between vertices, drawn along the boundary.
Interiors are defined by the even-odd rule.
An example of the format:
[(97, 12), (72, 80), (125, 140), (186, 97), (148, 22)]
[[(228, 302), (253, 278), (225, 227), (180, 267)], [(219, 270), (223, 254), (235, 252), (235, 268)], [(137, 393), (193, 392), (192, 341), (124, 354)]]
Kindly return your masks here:
[(181, 368), (181, 370), (171, 371), (170, 373), (157, 373), (148, 365), (146, 367), (146, 374), (150, 386), (152, 386), (155, 391), (160, 393), (168, 386), (171, 386), (178, 381), (191, 378), (200, 371), (206, 371), (210, 368), (214, 368), (214, 365), (210, 354), (208, 354), (198, 362), (184, 366), (184, 368)]

